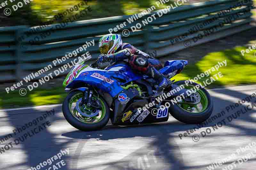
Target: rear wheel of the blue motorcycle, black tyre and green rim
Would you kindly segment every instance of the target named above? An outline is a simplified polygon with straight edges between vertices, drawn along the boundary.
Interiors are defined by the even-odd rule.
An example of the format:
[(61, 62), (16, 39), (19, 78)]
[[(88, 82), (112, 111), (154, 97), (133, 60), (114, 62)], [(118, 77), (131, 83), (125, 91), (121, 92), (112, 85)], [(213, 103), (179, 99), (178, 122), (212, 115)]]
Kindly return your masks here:
[[(195, 82), (185, 84), (185, 81), (177, 81), (174, 84), (184, 85), (184, 88), (190, 89), (195, 92), (195, 96), (199, 98), (200, 102), (197, 104), (189, 104), (182, 99), (182, 102), (171, 105), (171, 115), (180, 122), (196, 124), (207, 120), (213, 111), (213, 102), (210, 94), (200, 86), (198, 90), (195, 86), (198, 85)], [(193, 94), (193, 93), (192, 93)]]

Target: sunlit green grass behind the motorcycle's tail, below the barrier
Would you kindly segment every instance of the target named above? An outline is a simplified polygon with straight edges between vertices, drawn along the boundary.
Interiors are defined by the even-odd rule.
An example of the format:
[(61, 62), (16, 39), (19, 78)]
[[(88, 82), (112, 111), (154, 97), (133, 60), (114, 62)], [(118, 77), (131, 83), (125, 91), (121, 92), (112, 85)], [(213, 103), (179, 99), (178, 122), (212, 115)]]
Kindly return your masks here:
[[(227, 66), (221, 67), (218, 71), (213, 71), (210, 76), (204, 77), (195, 81), (196, 83), (203, 83), (206, 79), (217, 74), (219, 71), (223, 77), (212, 82), (208, 88), (216, 86), (226, 85), (243, 85), (256, 83), (256, 56), (254, 53), (256, 50), (250, 53), (241, 54), (241, 50), (247, 49), (246, 47), (237, 47), (233, 49), (227, 49), (225, 51), (210, 53), (203, 57), (203, 59), (197, 62), (195, 65), (189, 65), (185, 69), (174, 77), (176, 80), (194, 79), (197, 74), (204, 73), (205, 71), (214, 67), (218, 62), (224, 60), (227, 61)], [(215, 78), (216, 79), (216, 78)]]

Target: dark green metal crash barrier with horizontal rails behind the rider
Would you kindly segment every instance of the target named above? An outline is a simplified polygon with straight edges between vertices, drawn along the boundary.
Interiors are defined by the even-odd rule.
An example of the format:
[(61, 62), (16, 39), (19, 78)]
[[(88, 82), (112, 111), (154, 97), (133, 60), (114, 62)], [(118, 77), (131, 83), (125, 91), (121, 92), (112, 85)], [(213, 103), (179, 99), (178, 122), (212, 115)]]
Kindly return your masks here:
[[(157, 51), (157, 57), (188, 48), (184, 45), (188, 41), (194, 41), (189, 46), (191, 47), (251, 29), (253, 27), (250, 25), (252, 2), (248, 1), (240, 8), (226, 11), (234, 5), (238, 5), (239, 2), (237, 0), (217, 0), (181, 5), (170, 11), (159, 10), (148, 13), (131, 24), (127, 19), (132, 16), (117, 16), (49, 26), (0, 27), (0, 71), (3, 74), (0, 81), (20, 81), (31, 72), (43, 69), (49, 64), (53, 65), (53, 60), (60, 59), (67, 52), (72, 52), (83, 46), (86, 41), (94, 40), (94, 46), (89, 46), (86, 51), (79, 53), (81, 56), (89, 51), (92, 56), (88, 61), (90, 63), (100, 55), (98, 48), (100, 37), (108, 34), (108, 29), (114, 29), (124, 22), (126, 22), (126, 26), (112, 33), (122, 35), (123, 30), (128, 29), (130, 35), (127, 37), (122, 35), (124, 42), (131, 43), (145, 52)], [(245, 9), (247, 10), (245, 11)], [(220, 15), (221, 11), (226, 11), (225, 15)], [(147, 18), (153, 15), (155, 19), (149, 22)], [(232, 22), (225, 23), (234, 16), (237, 18)], [(220, 24), (221, 22), (224, 24)], [(135, 28), (136, 25), (142, 27), (133, 32), (131, 27)], [(191, 31), (193, 27), (196, 29)], [(204, 37), (198, 38), (200, 34), (203, 34)], [(62, 65), (70, 63), (74, 58), (56, 64), (54, 68), (35, 79), (57, 70)], [(59, 76), (66, 75), (68, 71)]]

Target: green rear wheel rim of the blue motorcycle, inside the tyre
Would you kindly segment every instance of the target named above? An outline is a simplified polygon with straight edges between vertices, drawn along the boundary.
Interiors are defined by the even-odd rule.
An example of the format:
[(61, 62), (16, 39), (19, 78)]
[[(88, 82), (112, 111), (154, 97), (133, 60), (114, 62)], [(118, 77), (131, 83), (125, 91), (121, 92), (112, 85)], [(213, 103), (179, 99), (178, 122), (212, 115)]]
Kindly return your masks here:
[[(195, 85), (184, 85), (185, 89), (192, 89), (195, 87)], [(195, 90), (193, 90), (195, 91)], [(197, 89), (196, 92), (199, 94), (200, 96), (200, 102), (197, 104), (188, 104), (188, 103), (178, 103), (177, 106), (179, 106), (181, 109), (185, 110), (186, 112), (192, 113), (192, 114), (199, 114), (202, 113), (206, 110), (207, 106), (208, 106), (208, 99), (207, 96), (205, 94), (205, 92), (202, 89)], [(182, 100), (184, 101), (184, 100)], [(189, 111), (192, 108), (195, 108), (194, 111)]]

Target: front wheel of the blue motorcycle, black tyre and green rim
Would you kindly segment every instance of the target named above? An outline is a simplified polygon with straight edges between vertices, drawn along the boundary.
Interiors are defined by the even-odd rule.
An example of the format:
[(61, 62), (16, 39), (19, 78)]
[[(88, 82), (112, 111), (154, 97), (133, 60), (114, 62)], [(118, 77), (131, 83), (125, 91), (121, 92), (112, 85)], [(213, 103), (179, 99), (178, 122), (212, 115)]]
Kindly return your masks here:
[(100, 96), (93, 95), (93, 100), (99, 100), (101, 105), (100, 108), (87, 107), (86, 105), (79, 104), (80, 110), (87, 115), (93, 115), (93, 113), (99, 112), (98, 115), (93, 117), (84, 117), (76, 109), (77, 101), (83, 97), (83, 92), (74, 91), (70, 92), (64, 100), (62, 104), (62, 112), (68, 123), (76, 129), (83, 131), (98, 130), (106, 126), (110, 115), (107, 102)]

